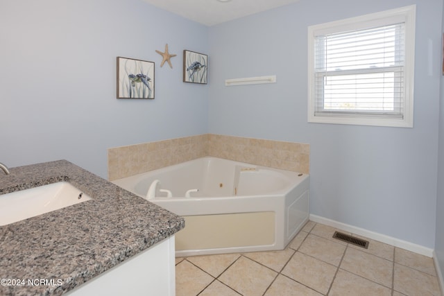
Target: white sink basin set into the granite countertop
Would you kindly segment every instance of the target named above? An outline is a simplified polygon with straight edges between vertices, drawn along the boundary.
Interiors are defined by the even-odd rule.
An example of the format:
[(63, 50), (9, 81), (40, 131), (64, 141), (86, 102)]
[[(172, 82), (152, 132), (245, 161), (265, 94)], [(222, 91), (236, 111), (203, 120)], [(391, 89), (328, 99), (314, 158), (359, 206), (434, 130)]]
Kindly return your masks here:
[(0, 195), (0, 225), (91, 200), (69, 182), (57, 182)]

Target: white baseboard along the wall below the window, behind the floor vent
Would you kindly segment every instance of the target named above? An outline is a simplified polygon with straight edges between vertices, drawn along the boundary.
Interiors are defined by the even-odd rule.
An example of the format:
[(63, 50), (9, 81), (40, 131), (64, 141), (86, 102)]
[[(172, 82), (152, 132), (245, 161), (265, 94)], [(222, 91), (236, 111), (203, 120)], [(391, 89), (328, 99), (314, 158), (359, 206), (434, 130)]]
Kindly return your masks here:
[(379, 234), (377, 232), (371, 232), (370, 230), (355, 227), (345, 223), (341, 223), (328, 218), (323, 218), (314, 214), (310, 214), (310, 220), (318, 222), (327, 226), (331, 226), (337, 229), (341, 229), (345, 232), (351, 232), (352, 234), (357, 234), (359, 236), (365, 236), (366, 238), (373, 239), (375, 241), (380, 241), (388, 245), (393, 245), (395, 247), (400, 247), (401, 249), (415, 252), (428, 257), (434, 257), (434, 250), (429, 247), (424, 247), (422, 245), (416, 245), (414, 243), (409, 243), (408, 241), (402, 241), (398, 238), (393, 238), (391, 236), (386, 236), (384, 234)]

